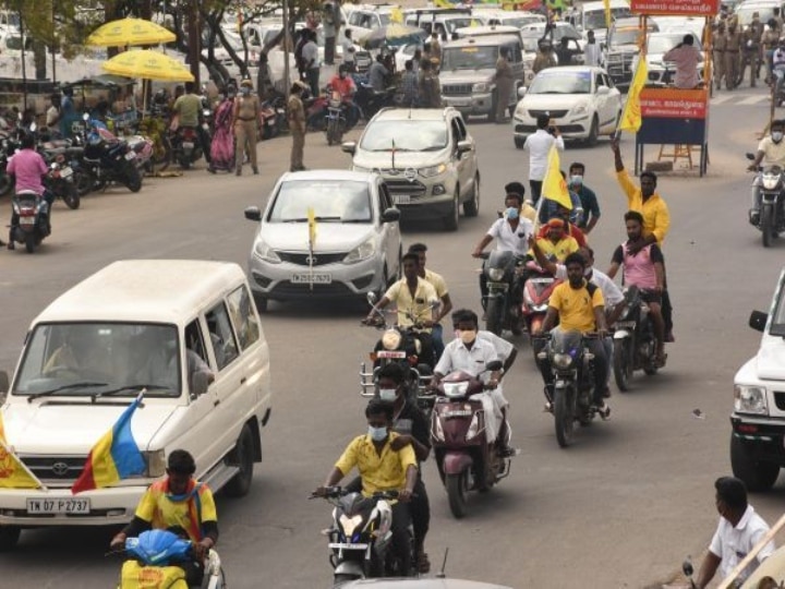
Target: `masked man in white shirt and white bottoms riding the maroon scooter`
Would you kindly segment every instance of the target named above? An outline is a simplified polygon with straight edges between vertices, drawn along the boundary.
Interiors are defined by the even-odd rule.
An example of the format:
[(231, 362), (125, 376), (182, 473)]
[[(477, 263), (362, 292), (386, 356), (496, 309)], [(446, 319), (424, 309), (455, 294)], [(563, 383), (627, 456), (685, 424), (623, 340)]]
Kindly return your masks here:
[[(488, 441), (498, 440), (499, 456), (515, 456), (516, 450), (509, 446), (511, 435), (507, 423), (509, 402), (500, 386), (504, 371), (485, 372), (486, 364), (498, 360), (499, 354), (492, 341), (478, 336), (478, 316), (473, 311), (461, 309), (452, 313), (452, 325), (456, 328), (456, 338), (447, 345), (442, 359), (436, 364), (431, 387), (436, 388), (442, 378), (456, 371), (467, 372), (474, 377), (481, 376), (485, 382), (485, 388), (488, 389), (487, 393), (482, 394), (485, 424), (490, 432)], [(512, 361), (515, 356), (508, 356), (507, 368)]]

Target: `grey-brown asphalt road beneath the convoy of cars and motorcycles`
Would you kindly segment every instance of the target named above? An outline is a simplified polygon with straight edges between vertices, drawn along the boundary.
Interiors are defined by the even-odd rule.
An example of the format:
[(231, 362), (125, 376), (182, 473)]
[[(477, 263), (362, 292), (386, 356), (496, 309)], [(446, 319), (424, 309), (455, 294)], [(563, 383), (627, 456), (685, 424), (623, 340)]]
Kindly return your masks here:
[[(759, 91), (760, 92), (760, 91)], [(727, 420), (733, 375), (757, 349), (747, 327), (752, 309), (766, 309), (785, 244), (763, 250), (747, 224), (748, 183), (742, 153), (756, 144), (768, 113), (754, 91), (720, 94), (712, 109), (709, 175), (663, 177), (673, 228), (665, 244), (677, 341), (654, 377), (636, 375), (633, 390), (614, 389), (613, 414), (559, 449), (553, 419), (542, 412), (542, 384), (529, 344), (506, 381), (514, 442), (521, 448), (508, 479), (471, 497), (469, 516), (455, 520), (436, 469), (425, 465), (432, 504), (427, 550), (439, 563), (449, 549), (449, 576), (511, 587), (648, 587), (672, 576), (688, 555), (699, 558), (714, 526), (713, 482), (729, 472)], [(496, 218), (502, 187), (526, 180), (528, 161), (509, 129), (472, 122), (479, 144), (482, 204), (457, 233), (418, 225), (407, 243), (424, 241), (428, 264), (446, 277), (457, 306), (479, 309), (474, 244)], [(632, 141), (623, 142), (632, 160)], [(56, 205), (55, 232), (39, 253), (0, 252), (0, 366), (13, 370), (25, 330), (55, 297), (105, 264), (130, 257), (195, 257), (245, 263), (254, 225), (242, 211), (264, 205), (288, 167), (289, 140), (259, 145), (262, 175), (149, 179), (138, 194), (112, 189), (83, 200), (76, 212)], [(349, 159), (324, 137), (306, 140), (306, 165), (345, 167)], [(648, 159), (655, 155), (650, 149)], [(587, 165), (585, 182), (603, 217), (591, 236), (606, 268), (625, 239), (625, 202), (606, 140), (595, 148), (568, 146), (563, 164)], [(3, 214), (8, 202), (2, 203)], [(150, 285), (155, 288), (155, 285)], [(265, 461), (251, 494), (219, 497), (224, 556), (231, 587), (327, 587), (328, 505), (306, 501), (348, 441), (365, 429), (358, 395), (360, 361), (377, 337), (361, 328), (357, 302), (270, 304), (264, 330), (275, 386)], [(449, 333), (449, 329), (447, 329)], [(340, 342), (336, 346), (336, 342)], [(699, 408), (705, 419), (696, 419)], [(785, 485), (752, 502), (769, 521), (781, 512)], [(0, 555), (0, 587), (109, 587), (120, 564), (104, 556), (109, 529), (36, 530)], [(13, 579), (13, 580), (12, 580)]]

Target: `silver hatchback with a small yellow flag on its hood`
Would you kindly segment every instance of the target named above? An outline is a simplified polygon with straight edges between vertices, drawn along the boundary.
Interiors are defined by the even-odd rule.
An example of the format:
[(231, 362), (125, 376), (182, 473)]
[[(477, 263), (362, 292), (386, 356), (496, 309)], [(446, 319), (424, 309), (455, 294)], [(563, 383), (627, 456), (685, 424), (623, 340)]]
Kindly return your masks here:
[[(383, 293), (400, 273), (400, 212), (376, 173), (309, 170), (285, 173), (258, 221), (249, 283), (259, 312), (278, 301)], [(309, 218), (315, 221), (315, 239)]]

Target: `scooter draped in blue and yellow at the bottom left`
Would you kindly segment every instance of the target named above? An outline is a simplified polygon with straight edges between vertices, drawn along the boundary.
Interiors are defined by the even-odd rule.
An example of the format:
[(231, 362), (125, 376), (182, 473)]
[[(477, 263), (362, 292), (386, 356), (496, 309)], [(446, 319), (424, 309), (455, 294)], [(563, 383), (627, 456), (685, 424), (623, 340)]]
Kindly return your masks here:
[[(190, 562), (192, 550), (190, 540), (183, 540), (167, 530), (148, 530), (140, 533), (138, 538), (126, 538), (124, 554), (130, 558), (123, 563), (118, 589), (188, 589), (184, 573), (177, 564)], [(201, 587), (226, 587), (220, 556), (215, 550), (210, 550), (207, 555), (204, 576)]]

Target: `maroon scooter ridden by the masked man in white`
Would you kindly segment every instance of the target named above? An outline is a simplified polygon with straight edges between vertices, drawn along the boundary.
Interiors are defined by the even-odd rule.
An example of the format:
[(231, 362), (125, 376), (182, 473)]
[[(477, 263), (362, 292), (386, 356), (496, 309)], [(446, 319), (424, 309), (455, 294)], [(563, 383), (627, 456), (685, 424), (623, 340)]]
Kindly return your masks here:
[[(498, 360), (487, 371), (502, 370)], [(483, 382), (466, 372), (452, 372), (438, 385), (431, 418), (431, 441), (442, 482), (447, 489), (450, 512), (467, 513), (467, 493), (484, 492), (509, 474), (511, 460), (497, 454), (498, 441), (486, 434)]]

